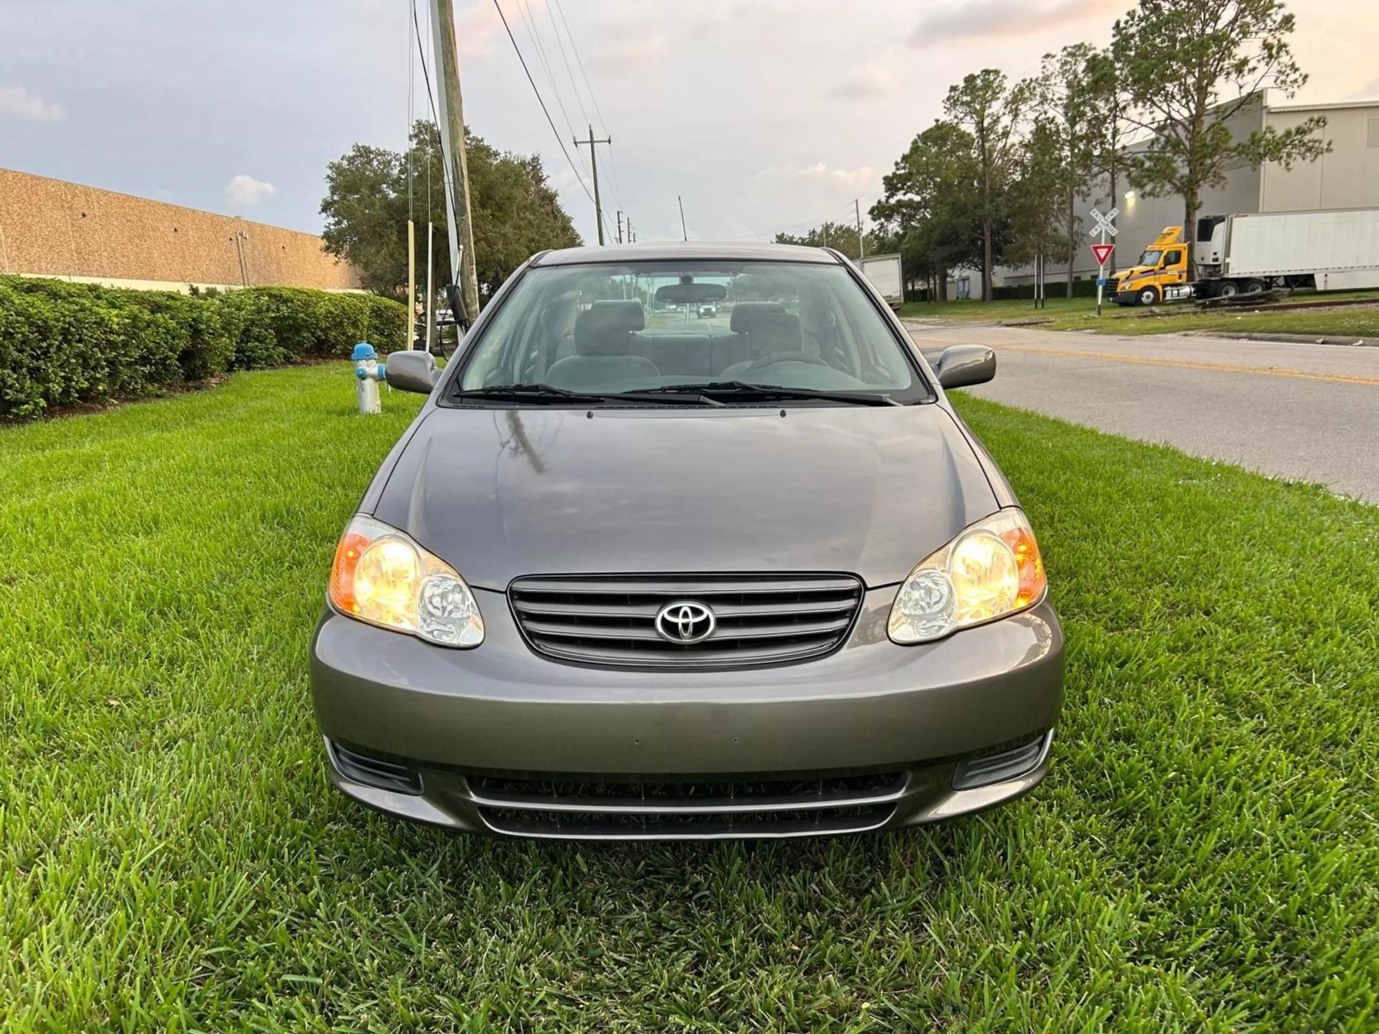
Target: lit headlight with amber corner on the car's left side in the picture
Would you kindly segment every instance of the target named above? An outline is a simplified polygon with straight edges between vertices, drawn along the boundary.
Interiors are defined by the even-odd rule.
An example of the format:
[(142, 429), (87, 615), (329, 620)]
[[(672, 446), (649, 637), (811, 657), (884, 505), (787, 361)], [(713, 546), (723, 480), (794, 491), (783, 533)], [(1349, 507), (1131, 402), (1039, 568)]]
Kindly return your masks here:
[(360, 513), (335, 547), (330, 597), (341, 614), (443, 647), (484, 641), (484, 619), (459, 572), (397, 528)]

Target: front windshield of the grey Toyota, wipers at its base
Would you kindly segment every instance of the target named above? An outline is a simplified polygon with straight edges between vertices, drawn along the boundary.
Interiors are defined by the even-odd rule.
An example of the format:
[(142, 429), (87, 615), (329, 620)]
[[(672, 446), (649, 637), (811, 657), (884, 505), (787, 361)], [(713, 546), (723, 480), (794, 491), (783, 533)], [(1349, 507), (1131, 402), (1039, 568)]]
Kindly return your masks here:
[(474, 405), (932, 398), (838, 263), (534, 266), (462, 363), (447, 394)]

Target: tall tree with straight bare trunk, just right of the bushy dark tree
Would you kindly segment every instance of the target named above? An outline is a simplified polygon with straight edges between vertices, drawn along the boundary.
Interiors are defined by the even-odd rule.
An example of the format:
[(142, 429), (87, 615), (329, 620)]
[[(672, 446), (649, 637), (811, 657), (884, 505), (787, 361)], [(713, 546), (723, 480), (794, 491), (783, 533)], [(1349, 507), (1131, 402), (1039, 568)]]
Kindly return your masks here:
[(1026, 83), (1009, 87), (1005, 73), (982, 69), (949, 87), (943, 110), (972, 139), (982, 223), (982, 301), (992, 301), (992, 263), (1003, 193), (1020, 161), (1020, 127), (1031, 101)]

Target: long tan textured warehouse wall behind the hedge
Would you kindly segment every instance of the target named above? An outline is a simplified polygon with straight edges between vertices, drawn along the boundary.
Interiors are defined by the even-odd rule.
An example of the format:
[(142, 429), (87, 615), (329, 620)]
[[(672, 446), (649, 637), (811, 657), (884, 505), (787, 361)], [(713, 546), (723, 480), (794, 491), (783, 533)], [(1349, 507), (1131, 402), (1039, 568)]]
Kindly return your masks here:
[(112, 287), (360, 290), (310, 233), (0, 168), (0, 273)]

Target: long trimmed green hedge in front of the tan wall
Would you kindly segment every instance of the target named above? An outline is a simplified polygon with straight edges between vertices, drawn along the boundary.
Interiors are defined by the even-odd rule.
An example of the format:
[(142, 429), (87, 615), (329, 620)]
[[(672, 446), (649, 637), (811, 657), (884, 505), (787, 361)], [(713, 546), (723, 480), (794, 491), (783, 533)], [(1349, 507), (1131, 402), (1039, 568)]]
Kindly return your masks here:
[(407, 347), (407, 309), (376, 295), (251, 287), (192, 298), (0, 276), (0, 418), (160, 394), (228, 369)]

